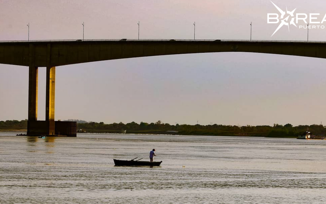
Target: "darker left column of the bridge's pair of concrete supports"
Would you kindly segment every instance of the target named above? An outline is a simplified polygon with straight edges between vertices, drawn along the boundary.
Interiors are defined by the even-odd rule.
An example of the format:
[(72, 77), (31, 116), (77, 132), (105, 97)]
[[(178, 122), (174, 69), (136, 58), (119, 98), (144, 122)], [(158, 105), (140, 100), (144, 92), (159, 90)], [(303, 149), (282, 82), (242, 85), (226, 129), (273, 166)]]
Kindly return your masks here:
[(37, 120), (37, 81), (38, 67), (29, 66), (28, 77), (28, 120)]

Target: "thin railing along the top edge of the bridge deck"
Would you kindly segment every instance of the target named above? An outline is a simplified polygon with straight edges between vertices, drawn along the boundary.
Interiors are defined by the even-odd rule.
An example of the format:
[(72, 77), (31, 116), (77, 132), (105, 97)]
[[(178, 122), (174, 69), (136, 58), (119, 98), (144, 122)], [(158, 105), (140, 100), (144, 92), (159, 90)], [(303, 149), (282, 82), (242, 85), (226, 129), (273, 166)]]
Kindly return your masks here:
[(306, 41), (306, 40), (243, 40), (243, 39), (55, 39), (55, 40), (4, 40), (1, 42), (73, 42), (73, 41), (221, 41), (221, 42), (306, 42), (306, 43), (326, 43), (326, 41)]

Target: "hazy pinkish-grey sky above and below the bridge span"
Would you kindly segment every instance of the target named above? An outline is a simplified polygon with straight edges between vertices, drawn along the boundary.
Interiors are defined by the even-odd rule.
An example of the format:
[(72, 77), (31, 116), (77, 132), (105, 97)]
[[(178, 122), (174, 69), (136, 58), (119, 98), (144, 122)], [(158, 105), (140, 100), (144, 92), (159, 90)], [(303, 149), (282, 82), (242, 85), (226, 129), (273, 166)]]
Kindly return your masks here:
[[(326, 13), (321, 0), (274, 0), (295, 13)], [(269, 0), (0, 0), (0, 40), (306, 40), (307, 30), (267, 24)], [(320, 25), (320, 24), (319, 24)], [(323, 24), (326, 26), (326, 22)], [(325, 29), (309, 40), (326, 41)], [(38, 119), (45, 119), (39, 68)], [(254, 53), (141, 57), (56, 68), (55, 118), (170, 124), (326, 124), (326, 59)], [(0, 120), (28, 117), (28, 67), (0, 64)]]

